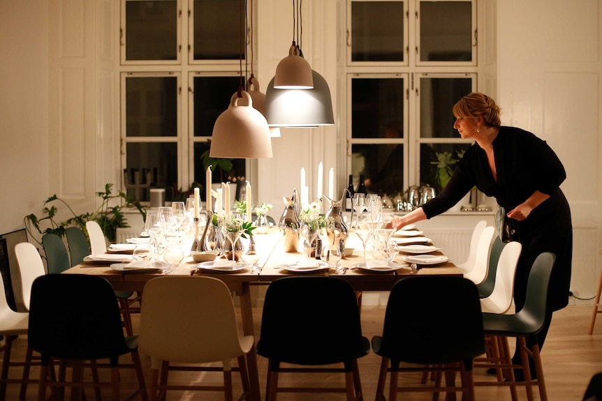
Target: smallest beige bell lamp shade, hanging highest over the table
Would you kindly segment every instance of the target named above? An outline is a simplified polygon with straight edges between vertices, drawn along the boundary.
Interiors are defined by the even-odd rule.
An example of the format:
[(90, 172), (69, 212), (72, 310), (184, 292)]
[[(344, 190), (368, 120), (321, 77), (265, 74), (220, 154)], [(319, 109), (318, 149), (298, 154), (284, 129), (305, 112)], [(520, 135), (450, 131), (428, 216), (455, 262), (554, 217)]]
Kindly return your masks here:
[(288, 50), (288, 56), (281, 59), (276, 67), (274, 86), (277, 89), (311, 89), (314, 87), (311, 66), (306, 59), (300, 56), (295, 42)]

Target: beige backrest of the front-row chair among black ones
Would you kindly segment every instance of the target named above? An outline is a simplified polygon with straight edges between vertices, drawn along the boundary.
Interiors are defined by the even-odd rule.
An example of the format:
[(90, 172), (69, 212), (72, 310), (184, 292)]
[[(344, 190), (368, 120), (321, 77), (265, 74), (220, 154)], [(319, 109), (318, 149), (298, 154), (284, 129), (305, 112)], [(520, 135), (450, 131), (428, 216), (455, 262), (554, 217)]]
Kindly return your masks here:
[(208, 363), (243, 354), (232, 295), (204, 276), (149, 280), (140, 310), (140, 352), (166, 361)]

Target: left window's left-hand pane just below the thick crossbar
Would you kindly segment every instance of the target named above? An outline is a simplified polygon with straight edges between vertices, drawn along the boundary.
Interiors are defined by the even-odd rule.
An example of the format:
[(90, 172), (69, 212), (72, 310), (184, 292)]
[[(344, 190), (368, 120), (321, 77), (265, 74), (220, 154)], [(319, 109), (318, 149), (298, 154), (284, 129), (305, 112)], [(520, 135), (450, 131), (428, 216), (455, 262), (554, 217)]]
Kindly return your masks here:
[(177, 136), (177, 78), (126, 78), (126, 136)]

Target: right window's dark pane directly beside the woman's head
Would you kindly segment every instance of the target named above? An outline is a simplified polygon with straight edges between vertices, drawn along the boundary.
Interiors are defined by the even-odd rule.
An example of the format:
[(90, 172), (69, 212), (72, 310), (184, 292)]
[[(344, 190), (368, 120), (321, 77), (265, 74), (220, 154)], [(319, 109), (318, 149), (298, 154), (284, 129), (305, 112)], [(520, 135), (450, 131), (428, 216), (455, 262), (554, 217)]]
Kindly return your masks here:
[(420, 78), (420, 137), (459, 137), (452, 108), (471, 91), (471, 78)]

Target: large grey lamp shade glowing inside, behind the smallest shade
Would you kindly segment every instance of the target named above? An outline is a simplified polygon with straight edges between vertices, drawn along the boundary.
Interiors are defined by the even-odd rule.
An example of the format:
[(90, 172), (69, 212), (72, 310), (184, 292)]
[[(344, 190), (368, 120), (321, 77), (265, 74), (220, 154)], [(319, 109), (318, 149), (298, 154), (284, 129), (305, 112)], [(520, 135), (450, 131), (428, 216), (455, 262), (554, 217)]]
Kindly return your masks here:
[(276, 89), (275, 77), (265, 91), (265, 118), (270, 127), (310, 128), (335, 125), (330, 88), (311, 70), (314, 89)]

